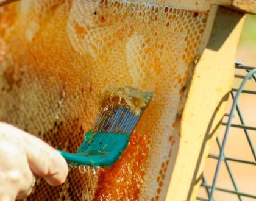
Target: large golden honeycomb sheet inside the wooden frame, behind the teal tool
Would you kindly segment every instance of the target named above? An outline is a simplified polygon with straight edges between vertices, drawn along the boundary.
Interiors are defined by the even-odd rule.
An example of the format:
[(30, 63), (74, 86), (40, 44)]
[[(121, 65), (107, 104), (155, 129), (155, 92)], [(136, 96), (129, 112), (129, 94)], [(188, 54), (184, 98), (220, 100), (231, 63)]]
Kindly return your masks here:
[(0, 121), (76, 152), (103, 88), (154, 91), (116, 164), (96, 174), (71, 170), (54, 188), (38, 178), (27, 200), (160, 199), (207, 16), (119, 0), (26, 0), (0, 8)]

